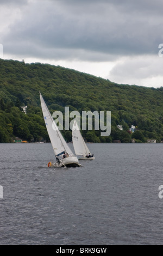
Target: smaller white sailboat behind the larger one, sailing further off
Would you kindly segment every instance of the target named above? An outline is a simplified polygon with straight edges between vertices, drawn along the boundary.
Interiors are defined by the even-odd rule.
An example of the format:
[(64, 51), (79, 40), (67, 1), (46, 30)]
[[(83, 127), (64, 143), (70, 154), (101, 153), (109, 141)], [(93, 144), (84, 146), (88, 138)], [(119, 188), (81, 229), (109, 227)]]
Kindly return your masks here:
[(77, 121), (74, 120), (72, 127), (72, 142), (76, 155), (80, 155), (79, 160), (94, 160), (95, 156), (91, 155), (90, 150), (87, 148), (85, 141), (80, 133)]

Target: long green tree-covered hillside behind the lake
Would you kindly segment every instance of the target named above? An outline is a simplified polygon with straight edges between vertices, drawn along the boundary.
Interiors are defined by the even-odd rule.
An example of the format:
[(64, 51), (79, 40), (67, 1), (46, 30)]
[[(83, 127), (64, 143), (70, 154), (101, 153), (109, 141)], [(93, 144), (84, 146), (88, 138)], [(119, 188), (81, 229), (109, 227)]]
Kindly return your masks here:
[[(111, 135), (83, 131), (87, 142), (130, 143), (163, 141), (163, 88), (116, 84), (100, 77), (49, 64), (0, 59), (0, 142), (19, 137), (28, 142), (49, 141), (42, 118), (39, 91), (51, 113), (111, 111)], [(21, 106), (27, 106), (27, 114)], [(122, 125), (123, 131), (117, 128)], [(131, 132), (131, 125), (135, 131)], [(67, 142), (71, 131), (64, 131)]]

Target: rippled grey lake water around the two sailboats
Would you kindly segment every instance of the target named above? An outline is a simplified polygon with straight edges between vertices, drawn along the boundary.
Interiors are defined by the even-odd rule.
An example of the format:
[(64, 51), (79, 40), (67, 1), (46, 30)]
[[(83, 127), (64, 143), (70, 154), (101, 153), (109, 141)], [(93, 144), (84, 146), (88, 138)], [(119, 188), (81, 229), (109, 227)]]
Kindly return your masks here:
[(163, 244), (163, 144), (88, 146), (53, 169), (51, 144), (0, 144), (1, 245)]

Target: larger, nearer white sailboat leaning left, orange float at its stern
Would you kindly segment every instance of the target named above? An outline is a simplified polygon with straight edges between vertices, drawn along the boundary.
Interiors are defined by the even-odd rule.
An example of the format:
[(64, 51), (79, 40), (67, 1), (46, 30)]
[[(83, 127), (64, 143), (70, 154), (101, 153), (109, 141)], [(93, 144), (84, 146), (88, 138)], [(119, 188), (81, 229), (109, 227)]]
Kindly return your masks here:
[[(80, 167), (81, 164), (79, 164), (77, 157), (74, 156), (71, 149), (68, 147), (64, 137), (62, 137), (61, 132), (59, 131), (57, 124), (55, 124), (55, 121), (53, 120), (52, 115), (49, 112), (41, 93), (40, 93), (40, 101), (41, 101), (42, 114), (45, 120), (47, 132), (52, 143), (55, 157), (58, 158), (57, 162), (53, 164), (50, 163), (48, 166)], [(68, 157), (65, 157), (63, 159), (62, 156), (64, 156), (65, 153), (68, 155)]]

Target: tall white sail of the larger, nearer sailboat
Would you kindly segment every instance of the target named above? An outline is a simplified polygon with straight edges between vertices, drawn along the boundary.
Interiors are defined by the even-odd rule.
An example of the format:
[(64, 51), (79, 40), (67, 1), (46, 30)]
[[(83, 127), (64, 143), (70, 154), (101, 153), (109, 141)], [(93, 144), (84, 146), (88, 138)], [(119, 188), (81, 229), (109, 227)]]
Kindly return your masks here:
[(53, 120), (52, 115), (49, 112), (41, 93), (40, 93), (40, 101), (41, 101), (43, 118), (45, 120), (46, 128), (52, 143), (55, 156), (63, 155), (64, 152), (68, 153), (69, 156), (73, 156), (71, 149), (68, 147), (64, 137), (62, 137), (61, 132), (58, 129), (58, 126), (55, 124), (55, 121)]

